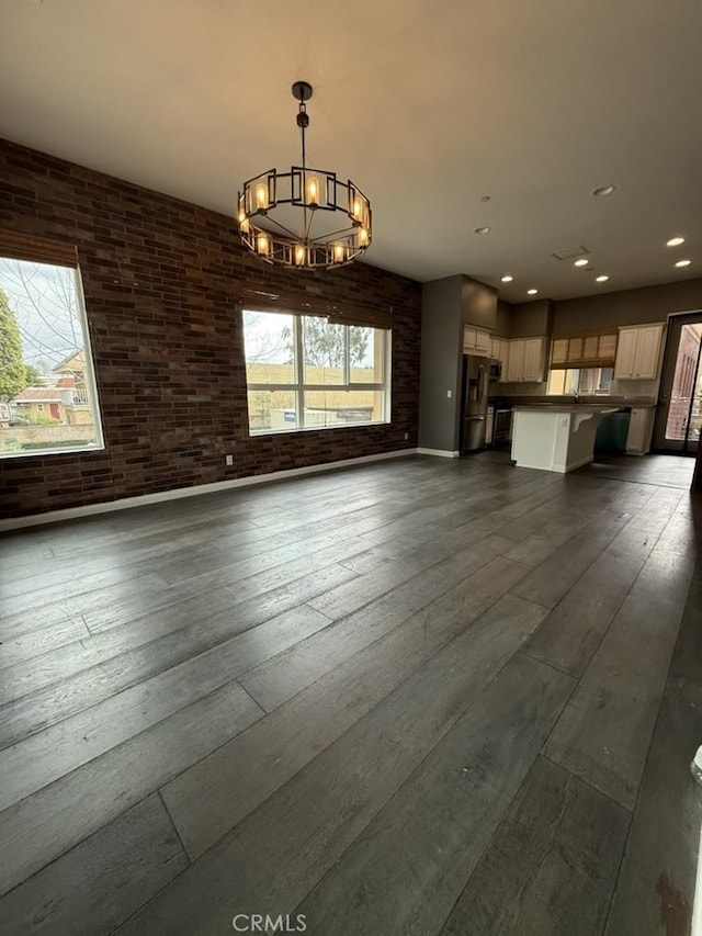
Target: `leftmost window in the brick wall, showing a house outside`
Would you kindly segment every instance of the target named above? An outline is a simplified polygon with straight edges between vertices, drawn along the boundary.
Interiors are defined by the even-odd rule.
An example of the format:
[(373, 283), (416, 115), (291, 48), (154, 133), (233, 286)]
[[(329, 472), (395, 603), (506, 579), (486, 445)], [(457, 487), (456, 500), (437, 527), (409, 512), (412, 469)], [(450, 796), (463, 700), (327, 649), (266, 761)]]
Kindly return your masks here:
[(22, 259), (12, 238), (0, 233), (0, 458), (101, 449), (78, 268)]

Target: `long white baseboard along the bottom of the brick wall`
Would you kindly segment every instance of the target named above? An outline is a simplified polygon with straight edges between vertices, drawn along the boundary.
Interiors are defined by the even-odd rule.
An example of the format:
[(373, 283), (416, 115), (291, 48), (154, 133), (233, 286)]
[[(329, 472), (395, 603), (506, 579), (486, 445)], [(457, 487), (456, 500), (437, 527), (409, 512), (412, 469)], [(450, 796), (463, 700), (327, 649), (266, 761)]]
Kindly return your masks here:
[(37, 527), (41, 523), (57, 523), (60, 520), (73, 520), (78, 517), (90, 517), (93, 514), (110, 514), (113, 510), (127, 510), (131, 507), (143, 507), (148, 504), (161, 504), (165, 500), (179, 500), (182, 497), (196, 497), (201, 494), (214, 494), (217, 490), (229, 490), (234, 487), (249, 487), (253, 484), (265, 484), (271, 481), (282, 481), (286, 477), (297, 477), (304, 474), (319, 474), (325, 471), (360, 465), (365, 462), (380, 462), (386, 459), (399, 459), (417, 454), (417, 449), (400, 449), (396, 452), (381, 452), (377, 455), (362, 455), (358, 459), (341, 459), (338, 462), (327, 462), (320, 465), (306, 465), (299, 469), (273, 471), (268, 474), (254, 474), (247, 477), (234, 477), (231, 481), (216, 481), (212, 484), (196, 484), (193, 487), (176, 487), (172, 490), (159, 490), (156, 494), (141, 494), (137, 497), (121, 497), (118, 500), (103, 500), (99, 504), (87, 504), (83, 507), (67, 507), (63, 510), (48, 510), (45, 514), (31, 514), (27, 517), (10, 517), (0, 520), (0, 532), (20, 530), (23, 527)]

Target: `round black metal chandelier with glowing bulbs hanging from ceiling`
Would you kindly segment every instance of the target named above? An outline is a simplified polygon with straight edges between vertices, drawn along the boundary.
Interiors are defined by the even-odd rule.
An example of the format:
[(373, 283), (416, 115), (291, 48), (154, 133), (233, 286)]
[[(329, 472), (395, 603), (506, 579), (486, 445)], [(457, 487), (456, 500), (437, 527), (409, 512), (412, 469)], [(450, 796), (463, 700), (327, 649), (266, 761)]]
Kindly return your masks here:
[(371, 203), (350, 179), (307, 166), (306, 101), (312, 84), (296, 81), (297, 126), (302, 134), (302, 166), (290, 172), (269, 169), (244, 183), (239, 192), (239, 234), (253, 253), (269, 263), (314, 269), (340, 267), (365, 252), (371, 244)]

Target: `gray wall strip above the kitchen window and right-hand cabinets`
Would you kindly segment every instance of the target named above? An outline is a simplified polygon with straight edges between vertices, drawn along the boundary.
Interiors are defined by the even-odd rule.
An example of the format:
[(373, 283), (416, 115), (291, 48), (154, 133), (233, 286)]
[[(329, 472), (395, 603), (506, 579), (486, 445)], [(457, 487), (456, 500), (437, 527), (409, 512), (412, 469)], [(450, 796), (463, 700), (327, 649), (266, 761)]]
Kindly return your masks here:
[[(519, 308), (519, 306), (516, 306)], [(683, 280), (555, 303), (553, 334), (665, 322), (670, 313), (702, 309), (702, 280)]]

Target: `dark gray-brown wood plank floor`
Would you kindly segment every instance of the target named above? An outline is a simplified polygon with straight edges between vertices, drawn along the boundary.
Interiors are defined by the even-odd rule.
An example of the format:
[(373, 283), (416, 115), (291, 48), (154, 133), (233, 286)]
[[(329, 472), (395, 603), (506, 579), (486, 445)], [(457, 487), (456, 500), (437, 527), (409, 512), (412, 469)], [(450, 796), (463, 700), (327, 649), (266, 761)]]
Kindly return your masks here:
[(688, 933), (692, 462), (502, 462), (5, 535), (3, 936)]

